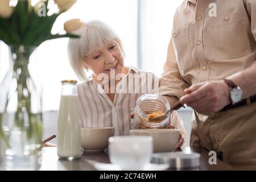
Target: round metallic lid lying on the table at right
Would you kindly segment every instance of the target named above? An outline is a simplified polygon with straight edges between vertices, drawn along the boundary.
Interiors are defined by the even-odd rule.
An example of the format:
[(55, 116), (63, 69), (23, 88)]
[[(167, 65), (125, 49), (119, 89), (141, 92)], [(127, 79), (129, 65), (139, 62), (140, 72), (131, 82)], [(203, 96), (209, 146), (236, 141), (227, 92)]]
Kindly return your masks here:
[(200, 154), (191, 152), (164, 152), (152, 155), (152, 163), (169, 164), (171, 169), (195, 169), (200, 167)]

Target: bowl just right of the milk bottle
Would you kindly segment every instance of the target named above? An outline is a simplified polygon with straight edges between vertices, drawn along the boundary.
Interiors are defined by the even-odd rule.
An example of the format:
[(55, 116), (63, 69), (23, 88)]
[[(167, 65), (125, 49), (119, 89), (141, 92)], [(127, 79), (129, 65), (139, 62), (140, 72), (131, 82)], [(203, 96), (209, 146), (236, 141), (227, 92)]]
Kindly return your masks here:
[(85, 151), (102, 151), (109, 146), (114, 136), (114, 127), (87, 127), (81, 129), (82, 148)]

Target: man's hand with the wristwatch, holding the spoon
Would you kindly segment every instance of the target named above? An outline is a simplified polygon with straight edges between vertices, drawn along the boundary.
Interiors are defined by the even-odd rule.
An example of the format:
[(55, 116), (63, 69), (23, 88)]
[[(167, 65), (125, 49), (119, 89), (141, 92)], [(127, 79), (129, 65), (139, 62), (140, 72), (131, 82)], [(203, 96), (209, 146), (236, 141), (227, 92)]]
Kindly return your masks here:
[(200, 114), (212, 114), (230, 104), (229, 87), (225, 81), (207, 81), (195, 84), (184, 90), (180, 98), (183, 104), (195, 109)]

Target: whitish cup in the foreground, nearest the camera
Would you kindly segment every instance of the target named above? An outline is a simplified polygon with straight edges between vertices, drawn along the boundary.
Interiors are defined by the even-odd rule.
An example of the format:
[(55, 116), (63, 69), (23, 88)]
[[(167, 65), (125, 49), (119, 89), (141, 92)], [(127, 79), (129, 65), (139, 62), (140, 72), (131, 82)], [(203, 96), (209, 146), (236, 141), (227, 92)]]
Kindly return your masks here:
[(109, 138), (110, 162), (122, 170), (142, 170), (150, 163), (153, 151), (152, 137), (122, 136)]

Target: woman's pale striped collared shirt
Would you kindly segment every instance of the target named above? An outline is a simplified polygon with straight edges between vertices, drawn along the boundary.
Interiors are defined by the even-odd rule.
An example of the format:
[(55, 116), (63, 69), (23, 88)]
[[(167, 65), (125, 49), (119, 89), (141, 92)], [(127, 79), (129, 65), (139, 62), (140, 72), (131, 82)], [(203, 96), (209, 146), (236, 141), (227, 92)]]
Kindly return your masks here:
[[(142, 74), (147, 76), (153, 75), (154, 77), (152, 77), (152, 79), (147, 77), (146, 81), (143, 81), (144, 79), (140, 77), (139, 82), (135, 77), (132, 77), (132, 80), (130, 80), (130, 76), (128, 75), (136, 74), (139, 76)], [(128, 77), (129, 81), (127, 81)], [(159, 84), (157, 88), (154, 88), (154, 84), (158, 83), (158, 81), (159, 78), (153, 73), (144, 72), (131, 66), (129, 73), (117, 84), (114, 101), (104, 92), (102, 86), (93, 79), (77, 85), (79, 94), (79, 114), (82, 127), (114, 127), (115, 135), (129, 134), (129, 130), (133, 129), (133, 119), (130, 118), (130, 113), (134, 110), (138, 98), (144, 93), (158, 92)], [(147, 84), (152, 85), (151, 89)], [(125, 85), (129, 92), (118, 92), (118, 88), (126, 88)], [(139, 88), (135, 88), (135, 86), (138, 85)], [(138, 93), (136, 89), (139, 91)], [(172, 112), (170, 121), (170, 125), (179, 129), (185, 139), (183, 121), (179, 118), (176, 111)]]

